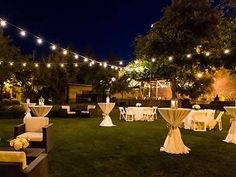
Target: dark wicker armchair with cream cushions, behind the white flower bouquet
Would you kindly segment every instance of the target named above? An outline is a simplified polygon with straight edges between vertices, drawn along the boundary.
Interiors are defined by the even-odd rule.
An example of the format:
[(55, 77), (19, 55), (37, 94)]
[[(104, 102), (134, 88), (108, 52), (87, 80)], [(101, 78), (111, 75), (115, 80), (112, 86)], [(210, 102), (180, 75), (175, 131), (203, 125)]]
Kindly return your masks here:
[(14, 138), (30, 139), (31, 148), (44, 148), (50, 152), (53, 148), (53, 124), (47, 117), (27, 117), (24, 124), (14, 128)]

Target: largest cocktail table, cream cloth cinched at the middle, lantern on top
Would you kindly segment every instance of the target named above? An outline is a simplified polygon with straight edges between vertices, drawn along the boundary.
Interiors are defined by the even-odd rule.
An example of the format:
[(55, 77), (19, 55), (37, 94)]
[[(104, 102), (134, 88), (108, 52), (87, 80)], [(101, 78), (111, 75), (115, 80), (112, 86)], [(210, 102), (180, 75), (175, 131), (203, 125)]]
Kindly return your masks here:
[(191, 109), (159, 108), (161, 116), (170, 124), (170, 130), (160, 151), (171, 154), (187, 154), (190, 149), (184, 145), (179, 127)]

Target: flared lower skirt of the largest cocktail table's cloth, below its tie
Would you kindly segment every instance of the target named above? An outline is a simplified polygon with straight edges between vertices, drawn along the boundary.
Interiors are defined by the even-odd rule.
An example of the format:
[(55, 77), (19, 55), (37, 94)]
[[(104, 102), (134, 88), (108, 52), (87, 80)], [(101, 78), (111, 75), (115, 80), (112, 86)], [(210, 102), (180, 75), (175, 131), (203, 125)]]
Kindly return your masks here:
[(172, 126), (160, 151), (171, 154), (187, 154), (190, 149), (184, 145), (179, 128)]

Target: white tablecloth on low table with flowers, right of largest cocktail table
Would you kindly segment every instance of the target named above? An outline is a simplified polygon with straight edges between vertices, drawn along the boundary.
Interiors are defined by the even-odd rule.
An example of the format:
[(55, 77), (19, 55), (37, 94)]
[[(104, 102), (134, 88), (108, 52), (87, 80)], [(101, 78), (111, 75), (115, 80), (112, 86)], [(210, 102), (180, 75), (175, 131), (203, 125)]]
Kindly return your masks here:
[(212, 109), (192, 110), (191, 113), (184, 119), (184, 128), (191, 129), (192, 120), (201, 120), (209, 126), (211, 121), (214, 121), (215, 111)]

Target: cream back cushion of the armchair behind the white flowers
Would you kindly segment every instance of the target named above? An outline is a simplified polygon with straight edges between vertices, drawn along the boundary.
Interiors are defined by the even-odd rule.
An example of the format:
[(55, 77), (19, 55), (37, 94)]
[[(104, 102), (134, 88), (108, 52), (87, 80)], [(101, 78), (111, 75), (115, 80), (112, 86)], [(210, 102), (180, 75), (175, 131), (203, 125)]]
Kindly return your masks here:
[(26, 132), (42, 132), (43, 127), (49, 123), (48, 117), (26, 117), (25, 118), (25, 131)]

